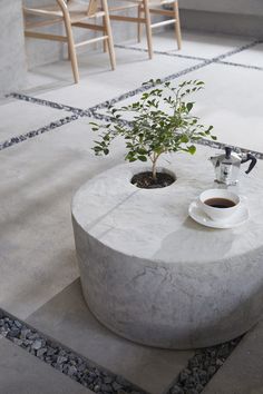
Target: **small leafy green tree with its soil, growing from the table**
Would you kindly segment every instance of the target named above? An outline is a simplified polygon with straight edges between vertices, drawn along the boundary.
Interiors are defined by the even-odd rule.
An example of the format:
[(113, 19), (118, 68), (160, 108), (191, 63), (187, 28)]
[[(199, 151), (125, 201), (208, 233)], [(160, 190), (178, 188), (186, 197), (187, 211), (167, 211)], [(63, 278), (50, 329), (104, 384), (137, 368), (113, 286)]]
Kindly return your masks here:
[[(202, 138), (216, 139), (211, 135), (213, 126), (199, 124), (198, 117), (192, 115), (194, 101), (187, 97), (204, 88), (199, 80), (184, 81), (178, 87), (159, 79), (150, 80), (152, 89), (142, 95), (138, 101), (128, 106), (109, 107), (110, 121), (90, 122), (94, 131), (103, 130), (100, 139), (95, 141), (96, 155), (108, 155), (113, 139), (123, 136), (126, 141), (128, 161), (150, 161), (152, 170), (137, 174), (132, 183), (143, 188), (164, 187), (175, 179), (157, 171), (157, 161), (163, 154), (185, 151), (193, 155), (195, 142)], [(124, 119), (125, 112), (133, 114), (133, 119)]]

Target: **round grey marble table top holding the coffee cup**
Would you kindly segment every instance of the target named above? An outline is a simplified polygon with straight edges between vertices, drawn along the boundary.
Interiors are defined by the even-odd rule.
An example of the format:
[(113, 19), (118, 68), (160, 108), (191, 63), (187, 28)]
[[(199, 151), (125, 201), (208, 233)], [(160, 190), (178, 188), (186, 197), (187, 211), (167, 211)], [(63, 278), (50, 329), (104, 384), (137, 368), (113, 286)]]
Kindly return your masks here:
[[(247, 197), (250, 219), (240, 227), (214, 229), (188, 216), (189, 204), (214, 187), (210, 156), (221, 154), (198, 146), (194, 156), (178, 152), (164, 157), (160, 167), (176, 175), (162, 189), (139, 189), (130, 184), (147, 165), (124, 164), (96, 176), (75, 195), (72, 214), (90, 236), (106, 246), (153, 263), (212, 264), (263, 252), (263, 162), (246, 175), (241, 168), (235, 188)], [(149, 166), (148, 166), (149, 168)]]

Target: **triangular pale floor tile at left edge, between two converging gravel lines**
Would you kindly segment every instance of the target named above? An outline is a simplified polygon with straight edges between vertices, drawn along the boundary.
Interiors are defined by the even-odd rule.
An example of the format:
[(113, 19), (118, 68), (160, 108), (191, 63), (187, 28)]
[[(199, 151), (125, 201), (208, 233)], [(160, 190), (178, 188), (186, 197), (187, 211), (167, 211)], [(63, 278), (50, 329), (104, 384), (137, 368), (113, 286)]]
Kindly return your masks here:
[(0, 106), (0, 142), (59, 120), (71, 112), (14, 100)]

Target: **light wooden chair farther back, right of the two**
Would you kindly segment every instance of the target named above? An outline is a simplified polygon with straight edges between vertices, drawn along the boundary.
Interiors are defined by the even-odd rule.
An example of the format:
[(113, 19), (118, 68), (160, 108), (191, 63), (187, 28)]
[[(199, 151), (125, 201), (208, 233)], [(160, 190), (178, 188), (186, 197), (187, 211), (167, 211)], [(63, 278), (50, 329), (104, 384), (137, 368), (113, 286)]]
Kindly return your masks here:
[[(109, 8), (109, 18), (117, 21), (136, 22), (138, 24), (138, 41), (142, 37), (142, 24), (146, 28), (146, 38), (149, 59), (153, 58), (152, 29), (166, 24), (175, 24), (175, 35), (177, 47), (182, 47), (181, 24), (178, 0), (125, 0), (127, 4)], [(164, 4), (172, 3), (173, 9), (164, 9)], [(115, 12), (121, 12), (132, 8), (137, 8), (137, 17), (118, 16)], [(152, 23), (150, 13), (169, 17), (160, 22)]]

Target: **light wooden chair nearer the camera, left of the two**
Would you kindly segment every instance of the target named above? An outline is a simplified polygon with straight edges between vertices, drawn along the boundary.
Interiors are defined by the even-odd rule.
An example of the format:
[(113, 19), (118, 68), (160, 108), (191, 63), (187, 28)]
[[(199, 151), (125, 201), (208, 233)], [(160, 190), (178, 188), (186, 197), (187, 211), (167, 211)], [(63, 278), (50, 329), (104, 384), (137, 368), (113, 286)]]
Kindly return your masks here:
[[(32, 37), (37, 39), (45, 40), (55, 40), (60, 42), (68, 43), (68, 55), (71, 61), (72, 73), (75, 82), (79, 81), (79, 71), (78, 71), (78, 61), (76, 56), (76, 48), (80, 46), (85, 46), (88, 43), (104, 41), (108, 48), (109, 58), (111, 68), (115, 69), (115, 51), (114, 51), (114, 42), (113, 35), (108, 14), (108, 4), (107, 0), (101, 0), (101, 8), (98, 8), (97, 0), (90, 0), (89, 4), (81, 3), (76, 0), (56, 0), (53, 1), (53, 6), (45, 6), (37, 8), (28, 8), (23, 7), (25, 13), (25, 36)], [(30, 22), (28, 16), (37, 16), (38, 21)], [(101, 18), (101, 24), (90, 23), (91, 18)], [(66, 36), (58, 35), (48, 35), (47, 32), (39, 32), (32, 30), (33, 28), (39, 28), (43, 26), (55, 24), (55, 23), (64, 23)], [(75, 43), (72, 27), (85, 28), (95, 31), (103, 32), (103, 36), (96, 37), (92, 39), (88, 39), (86, 41), (81, 41)], [(105, 48), (106, 48), (105, 46)]]

